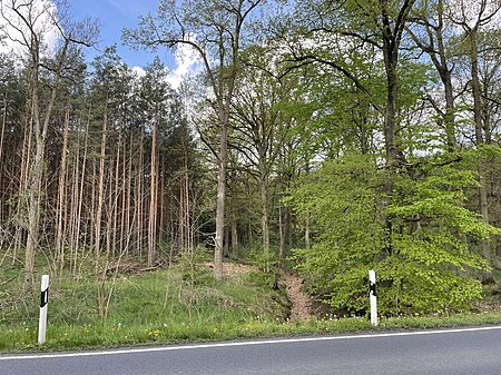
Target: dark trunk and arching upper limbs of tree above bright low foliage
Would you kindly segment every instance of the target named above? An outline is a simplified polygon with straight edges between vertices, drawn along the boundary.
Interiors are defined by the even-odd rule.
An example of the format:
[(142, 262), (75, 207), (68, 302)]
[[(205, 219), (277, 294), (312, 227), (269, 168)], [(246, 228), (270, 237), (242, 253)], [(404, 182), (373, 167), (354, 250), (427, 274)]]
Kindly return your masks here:
[[(397, 140), (397, 99), (400, 80), (400, 53), (405, 28), (410, 21), (410, 13), (414, 7), (414, 0), (391, 2), (381, 1), (312, 1), (297, 3), (298, 16), (305, 21), (297, 28), (301, 32), (298, 42), (293, 39), (288, 42), (289, 60), (297, 61), (297, 66), (317, 62), (335, 69), (341, 75), (352, 80), (361, 90), (369, 92), (356, 75), (356, 66), (347, 65), (342, 55), (344, 47), (334, 56), (325, 56), (326, 42), (344, 46), (345, 38), (356, 40), (362, 48), (375, 48), (382, 55), (382, 67), (385, 80), (385, 101), (380, 107), (383, 117), (382, 132), (384, 135), (386, 181), (382, 188), (383, 210), (382, 219), (385, 223), (386, 234), (382, 256), (391, 255), (393, 244), (391, 234), (392, 220), (386, 215), (386, 209), (392, 203), (394, 194), (394, 176), (404, 160), (403, 147)], [(311, 17), (314, 13), (316, 17)], [(292, 22), (294, 24), (294, 22)], [(286, 29), (285, 29), (286, 30)], [(287, 40), (287, 37), (285, 38)], [(308, 42), (310, 41), (310, 42)], [(375, 100), (372, 101), (374, 106)]]

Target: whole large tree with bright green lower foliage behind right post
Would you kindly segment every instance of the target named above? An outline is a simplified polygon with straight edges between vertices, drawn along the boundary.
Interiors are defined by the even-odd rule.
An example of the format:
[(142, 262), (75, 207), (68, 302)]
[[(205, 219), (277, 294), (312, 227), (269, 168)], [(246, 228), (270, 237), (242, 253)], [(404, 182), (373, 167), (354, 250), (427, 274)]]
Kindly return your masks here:
[[(468, 305), (481, 296), (481, 285), (471, 275), (489, 266), (469, 254), (462, 238), (485, 240), (499, 233), (463, 208), (464, 191), (475, 182), (469, 165), (460, 161), (471, 162), (474, 157), (442, 154), (443, 148), (433, 145), (436, 134), (429, 128), (430, 118), (422, 116), (422, 92), (430, 85), (426, 66), (409, 61), (412, 55), (403, 55), (402, 49), (407, 26), (412, 29), (409, 22), (414, 6), (413, 1), (301, 3), (303, 14), (318, 17), (304, 17), (301, 37), (287, 45), (292, 68), (325, 66), (324, 71), (344, 76), (367, 95), (380, 114), (375, 122), (384, 135), (384, 169), (377, 148), (363, 156), (343, 142), (342, 152), (327, 157), (311, 178), (301, 180), (288, 200), (304, 219), (313, 214), (318, 231), (310, 251), (296, 251), (299, 269), (315, 275), (311, 284), (315, 293), (333, 307), (352, 313), (364, 310), (364, 280), (370, 268), (380, 274), (389, 298), (382, 302), (386, 314)], [(341, 48), (328, 52), (328, 40)], [(371, 92), (373, 88), (367, 89), (375, 80), (361, 79), (367, 60), (347, 59), (350, 41), (357, 42), (358, 50), (371, 46), (377, 51), (372, 71), (377, 66), (383, 71), (384, 101)], [(343, 57), (337, 55), (341, 51)], [(450, 70), (446, 63), (445, 68)], [(340, 112), (335, 106), (327, 108), (331, 110), (320, 115), (333, 122), (342, 118), (346, 105)], [(448, 116), (446, 121), (453, 119)], [(448, 126), (449, 148), (454, 145), (454, 127), (452, 122)], [(458, 278), (458, 269), (465, 272), (465, 284)], [(413, 293), (431, 285), (441, 287), (424, 293), (423, 298), (424, 294)], [(462, 296), (455, 294), (459, 289)], [(448, 296), (451, 290), (454, 295)]]

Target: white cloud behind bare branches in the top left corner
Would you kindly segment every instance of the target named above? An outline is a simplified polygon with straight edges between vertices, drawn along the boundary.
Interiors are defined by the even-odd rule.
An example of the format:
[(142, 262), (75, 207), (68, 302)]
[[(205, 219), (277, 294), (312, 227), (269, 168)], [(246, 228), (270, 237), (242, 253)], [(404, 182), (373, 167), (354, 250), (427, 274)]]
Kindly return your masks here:
[(22, 16), (30, 20), (31, 27), (41, 37), (42, 53), (55, 50), (60, 39), (59, 30), (55, 27), (57, 19), (56, 4), (49, 0), (10, 0), (0, 1), (0, 52), (26, 55), (28, 52), (27, 40), (28, 26), (12, 10), (18, 8)]

